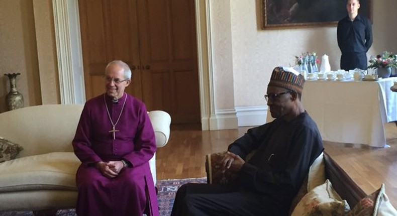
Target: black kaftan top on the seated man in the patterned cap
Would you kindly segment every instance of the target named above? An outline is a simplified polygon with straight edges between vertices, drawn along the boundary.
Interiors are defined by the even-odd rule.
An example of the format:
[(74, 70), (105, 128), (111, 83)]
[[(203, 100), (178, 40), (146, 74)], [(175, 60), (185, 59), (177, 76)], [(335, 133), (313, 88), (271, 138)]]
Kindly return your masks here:
[(316, 123), (304, 112), (290, 122), (278, 118), (249, 129), (228, 151), (244, 159), (256, 150), (239, 172), (240, 184), (287, 207), (323, 149)]

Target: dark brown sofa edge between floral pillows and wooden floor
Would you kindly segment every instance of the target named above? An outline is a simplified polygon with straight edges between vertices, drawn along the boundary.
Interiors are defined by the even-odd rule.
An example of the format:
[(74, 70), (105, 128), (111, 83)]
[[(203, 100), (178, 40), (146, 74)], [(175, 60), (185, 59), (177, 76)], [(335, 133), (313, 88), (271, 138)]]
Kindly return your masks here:
[(367, 195), (327, 153), (324, 153), (324, 162), (326, 178), (350, 206), (355, 206)]

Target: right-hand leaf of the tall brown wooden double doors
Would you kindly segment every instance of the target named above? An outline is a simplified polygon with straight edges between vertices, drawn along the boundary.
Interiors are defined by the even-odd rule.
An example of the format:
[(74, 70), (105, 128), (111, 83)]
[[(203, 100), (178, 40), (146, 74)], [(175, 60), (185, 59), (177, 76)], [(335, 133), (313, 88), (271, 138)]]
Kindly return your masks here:
[(173, 123), (200, 123), (194, 1), (139, 1), (138, 20), (146, 105)]

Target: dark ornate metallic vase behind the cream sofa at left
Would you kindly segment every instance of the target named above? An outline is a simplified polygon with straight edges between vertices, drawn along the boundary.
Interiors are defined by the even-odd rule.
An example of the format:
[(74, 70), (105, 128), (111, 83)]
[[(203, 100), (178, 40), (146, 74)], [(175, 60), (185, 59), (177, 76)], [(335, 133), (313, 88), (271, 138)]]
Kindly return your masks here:
[(24, 97), (17, 90), (17, 76), (20, 73), (6, 73), (10, 80), (10, 92), (6, 95), (6, 104), (9, 111), (24, 107)]

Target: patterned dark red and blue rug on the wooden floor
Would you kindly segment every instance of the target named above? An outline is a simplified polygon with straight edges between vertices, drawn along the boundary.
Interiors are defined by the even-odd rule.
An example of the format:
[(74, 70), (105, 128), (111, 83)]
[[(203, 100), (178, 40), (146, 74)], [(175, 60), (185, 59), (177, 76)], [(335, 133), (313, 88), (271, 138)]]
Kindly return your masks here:
[[(157, 181), (157, 200), (160, 207), (160, 216), (169, 216), (171, 214), (176, 191), (180, 186), (182, 186), (182, 184), (188, 182), (205, 183), (207, 182), (207, 178), (184, 178)], [(74, 209), (62, 209), (58, 210), (56, 215), (75, 216), (76, 212)], [(32, 211), (7, 211), (0, 212), (0, 216), (34, 216), (34, 214)]]

